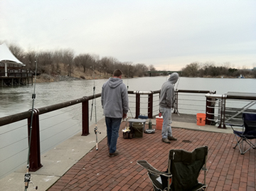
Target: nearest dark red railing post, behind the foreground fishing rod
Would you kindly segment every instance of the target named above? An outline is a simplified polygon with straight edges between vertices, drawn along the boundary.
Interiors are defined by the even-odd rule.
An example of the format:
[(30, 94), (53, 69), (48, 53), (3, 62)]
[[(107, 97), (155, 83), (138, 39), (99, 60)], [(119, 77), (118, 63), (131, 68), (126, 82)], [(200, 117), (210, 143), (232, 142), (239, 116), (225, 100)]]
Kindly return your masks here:
[(31, 132), (31, 148), (29, 155), (29, 171), (36, 172), (41, 165), (41, 152), (40, 152), (40, 130), (39, 130), (39, 114), (37, 109), (33, 109), (33, 122), (32, 129), (31, 118), (28, 118), (28, 144), (30, 139), (30, 131)]

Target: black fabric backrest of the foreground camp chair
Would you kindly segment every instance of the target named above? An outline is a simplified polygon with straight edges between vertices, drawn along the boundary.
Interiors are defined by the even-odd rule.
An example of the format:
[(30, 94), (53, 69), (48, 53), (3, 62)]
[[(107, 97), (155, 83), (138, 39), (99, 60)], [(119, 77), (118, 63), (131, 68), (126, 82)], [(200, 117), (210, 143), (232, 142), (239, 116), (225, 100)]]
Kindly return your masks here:
[(206, 163), (208, 146), (194, 149), (192, 152), (181, 149), (169, 151), (169, 172), (172, 174), (171, 190), (191, 190), (198, 185), (198, 176)]

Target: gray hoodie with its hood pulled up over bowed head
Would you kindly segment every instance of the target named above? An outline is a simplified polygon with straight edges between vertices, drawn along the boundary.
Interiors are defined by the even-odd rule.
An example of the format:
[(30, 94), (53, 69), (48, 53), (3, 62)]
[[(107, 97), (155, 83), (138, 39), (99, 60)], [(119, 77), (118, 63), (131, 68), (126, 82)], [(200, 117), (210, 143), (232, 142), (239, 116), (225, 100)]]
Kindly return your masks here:
[(178, 81), (178, 73), (174, 72), (161, 87), (159, 107), (174, 107), (174, 84)]

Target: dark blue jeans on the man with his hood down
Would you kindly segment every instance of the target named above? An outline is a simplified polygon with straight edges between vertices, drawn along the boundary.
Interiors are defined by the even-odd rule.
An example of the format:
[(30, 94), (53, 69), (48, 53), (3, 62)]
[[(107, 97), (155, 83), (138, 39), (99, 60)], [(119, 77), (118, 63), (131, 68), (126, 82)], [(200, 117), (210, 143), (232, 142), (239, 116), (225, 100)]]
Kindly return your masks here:
[(107, 146), (110, 148), (110, 153), (114, 153), (117, 150), (117, 138), (119, 137), (119, 127), (122, 118), (111, 118), (105, 116), (107, 126)]

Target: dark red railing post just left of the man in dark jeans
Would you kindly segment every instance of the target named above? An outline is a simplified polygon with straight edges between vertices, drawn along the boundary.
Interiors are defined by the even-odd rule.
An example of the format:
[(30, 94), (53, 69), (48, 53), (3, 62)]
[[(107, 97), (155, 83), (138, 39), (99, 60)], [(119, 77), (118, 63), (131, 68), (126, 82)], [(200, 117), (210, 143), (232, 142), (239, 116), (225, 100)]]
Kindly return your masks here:
[(82, 102), (82, 136), (89, 135), (89, 100)]

